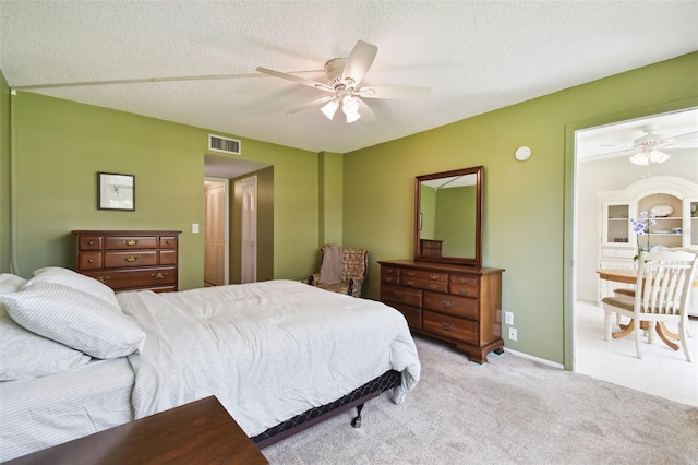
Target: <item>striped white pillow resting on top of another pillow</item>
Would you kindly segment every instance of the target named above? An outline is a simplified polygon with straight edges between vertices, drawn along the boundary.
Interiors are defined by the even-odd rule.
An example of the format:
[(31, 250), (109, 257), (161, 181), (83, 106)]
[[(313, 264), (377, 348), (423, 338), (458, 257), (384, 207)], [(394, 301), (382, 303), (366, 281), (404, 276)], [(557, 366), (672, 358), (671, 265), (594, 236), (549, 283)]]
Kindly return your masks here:
[(62, 284), (34, 283), (0, 295), (0, 302), (25, 329), (96, 358), (123, 357), (145, 344), (143, 330), (118, 306)]

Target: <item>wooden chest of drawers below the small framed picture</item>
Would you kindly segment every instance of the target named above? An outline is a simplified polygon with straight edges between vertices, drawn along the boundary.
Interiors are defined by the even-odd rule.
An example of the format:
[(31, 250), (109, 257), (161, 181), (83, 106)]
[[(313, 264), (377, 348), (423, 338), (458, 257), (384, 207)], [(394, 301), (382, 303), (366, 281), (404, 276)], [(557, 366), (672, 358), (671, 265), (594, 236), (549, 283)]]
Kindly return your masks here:
[(75, 271), (115, 291), (178, 289), (174, 230), (74, 230)]

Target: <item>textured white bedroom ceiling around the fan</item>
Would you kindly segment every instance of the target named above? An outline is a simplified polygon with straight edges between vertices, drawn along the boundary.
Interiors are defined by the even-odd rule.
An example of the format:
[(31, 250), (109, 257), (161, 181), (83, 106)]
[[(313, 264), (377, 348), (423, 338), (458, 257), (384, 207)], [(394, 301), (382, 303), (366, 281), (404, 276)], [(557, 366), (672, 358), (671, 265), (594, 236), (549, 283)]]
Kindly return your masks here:
[[(325, 94), (255, 72), (322, 70), (362, 39), (373, 122), (286, 114)], [(11, 87), (313, 152), (346, 153), (698, 50), (697, 1), (0, 1)], [(299, 74), (323, 80), (323, 73)], [(242, 146), (244, 155), (244, 145)]]

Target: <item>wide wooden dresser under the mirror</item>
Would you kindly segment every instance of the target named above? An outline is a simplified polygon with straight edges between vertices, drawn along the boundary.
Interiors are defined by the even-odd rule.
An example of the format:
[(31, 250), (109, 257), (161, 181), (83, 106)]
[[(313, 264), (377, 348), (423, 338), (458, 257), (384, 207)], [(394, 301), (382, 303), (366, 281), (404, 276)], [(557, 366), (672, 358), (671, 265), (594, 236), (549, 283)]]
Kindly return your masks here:
[(411, 260), (381, 261), (381, 301), (412, 331), (448, 341), (478, 363), (502, 354), (501, 269)]

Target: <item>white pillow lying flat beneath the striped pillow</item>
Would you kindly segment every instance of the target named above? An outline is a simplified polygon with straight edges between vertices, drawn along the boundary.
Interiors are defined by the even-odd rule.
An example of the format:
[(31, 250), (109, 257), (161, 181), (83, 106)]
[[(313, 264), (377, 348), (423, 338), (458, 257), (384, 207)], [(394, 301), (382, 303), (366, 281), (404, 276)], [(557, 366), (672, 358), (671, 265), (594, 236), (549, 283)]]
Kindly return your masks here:
[(88, 361), (83, 353), (20, 326), (0, 305), (0, 381), (62, 373)]

